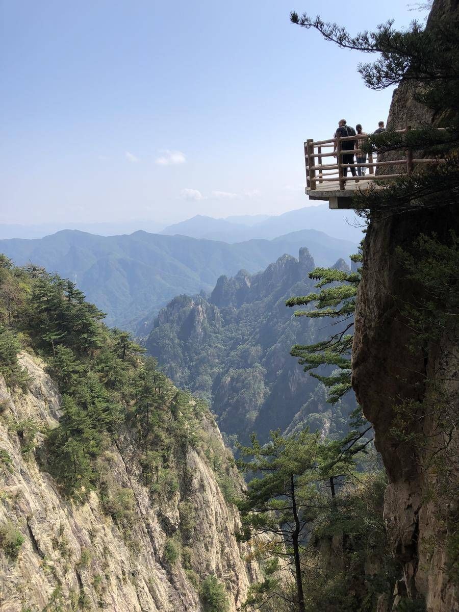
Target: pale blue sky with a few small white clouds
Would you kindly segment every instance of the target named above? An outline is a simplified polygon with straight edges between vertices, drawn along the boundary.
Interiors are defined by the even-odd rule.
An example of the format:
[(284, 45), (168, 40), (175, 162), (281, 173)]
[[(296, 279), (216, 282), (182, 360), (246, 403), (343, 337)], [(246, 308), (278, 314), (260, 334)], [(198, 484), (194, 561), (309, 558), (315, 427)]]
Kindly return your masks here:
[[(403, 0), (0, 0), (2, 223), (173, 222), (305, 206), (302, 143), (375, 129), (392, 91), (362, 56), (289, 23), (351, 31)], [(420, 15), (420, 18), (424, 15)]]

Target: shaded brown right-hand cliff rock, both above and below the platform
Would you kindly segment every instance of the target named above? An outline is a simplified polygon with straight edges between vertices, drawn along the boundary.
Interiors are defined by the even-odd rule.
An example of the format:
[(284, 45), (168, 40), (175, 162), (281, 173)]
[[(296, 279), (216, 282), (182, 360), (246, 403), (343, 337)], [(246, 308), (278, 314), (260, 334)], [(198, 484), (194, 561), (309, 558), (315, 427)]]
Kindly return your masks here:
[[(458, 10), (455, 0), (436, 1), (430, 20), (449, 18)], [(435, 125), (440, 119), (420, 106), (412, 94), (413, 86), (408, 84), (401, 84), (395, 92), (389, 127), (415, 127), (422, 122)], [(447, 554), (452, 525), (458, 520), (455, 489), (432, 494), (442, 477), (432, 460), (436, 449), (447, 449), (444, 471), (454, 479), (457, 474), (452, 464), (457, 458), (458, 439), (454, 428), (441, 430), (435, 414), (430, 413), (435, 409), (426, 409), (433, 390), (446, 384), (457, 412), (457, 359), (452, 357), (455, 347), (446, 333), (413, 350), (416, 332), (401, 304), (422, 304), (425, 294), (422, 283), (407, 278), (395, 252), (397, 247), (409, 251), (420, 234), (436, 233), (440, 243), (448, 242), (450, 229), (459, 230), (457, 207), (392, 215), (370, 223), (364, 241), (353, 349), (353, 387), (365, 416), (375, 427), (375, 444), (390, 479), (384, 517), (395, 559), (403, 569), (395, 605), (398, 597), (407, 593), (414, 599), (425, 599), (428, 612), (459, 610), (454, 577), (448, 572), (451, 554)], [(402, 439), (397, 435), (400, 406), (407, 402), (414, 408), (408, 437)], [(414, 444), (414, 438), (424, 442)], [(382, 609), (388, 609), (386, 604)]]

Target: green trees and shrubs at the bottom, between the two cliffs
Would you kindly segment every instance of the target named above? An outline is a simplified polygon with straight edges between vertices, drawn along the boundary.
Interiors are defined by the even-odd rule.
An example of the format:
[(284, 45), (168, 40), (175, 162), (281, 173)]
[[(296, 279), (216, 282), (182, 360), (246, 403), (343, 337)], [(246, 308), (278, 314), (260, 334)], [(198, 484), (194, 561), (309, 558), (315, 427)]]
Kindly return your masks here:
[[(379, 472), (357, 471), (362, 449), (305, 430), (272, 432), (264, 446), (253, 436), (240, 450), (240, 468), (255, 476), (238, 503), (239, 537), (264, 567), (245, 608), (284, 610), (288, 600), (285, 610), (299, 612), (322, 605), (330, 612), (373, 610), (394, 577), (382, 517), (386, 483)], [(368, 559), (375, 559), (374, 575), (365, 569)]]

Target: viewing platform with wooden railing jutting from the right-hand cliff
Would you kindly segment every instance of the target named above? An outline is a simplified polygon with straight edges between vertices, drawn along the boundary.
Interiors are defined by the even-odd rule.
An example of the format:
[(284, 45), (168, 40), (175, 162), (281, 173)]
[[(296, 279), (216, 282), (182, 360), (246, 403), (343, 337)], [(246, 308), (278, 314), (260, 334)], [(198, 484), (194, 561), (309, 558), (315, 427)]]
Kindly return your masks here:
[[(411, 126), (403, 130), (395, 130), (398, 133), (405, 133), (411, 130)], [(444, 130), (444, 128), (438, 128)], [(357, 191), (364, 191), (371, 184), (375, 188), (383, 188), (380, 182), (393, 181), (402, 174), (412, 174), (417, 165), (429, 163), (441, 163), (439, 159), (413, 159), (412, 149), (405, 150), (404, 159), (390, 161), (378, 161), (373, 159), (373, 154), (368, 154), (365, 163), (352, 163), (346, 165), (342, 163), (343, 155), (356, 155), (359, 149), (343, 149), (345, 141), (364, 142), (371, 134), (359, 134), (357, 136), (337, 135), (330, 140), (314, 141), (309, 138), (304, 143), (304, 155), (306, 163), (306, 188), (305, 193), (310, 200), (328, 200), (331, 209), (353, 209), (353, 196)], [(354, 146), (356, 146), (354, 144)], [(328, 149), (328, 150), (327, 150)], [(327, 158), (332, 157), (332, 163), (327, 163)], [(363, 155), (362, 155), (363, 157)], [(325, 158), (325, 163), (324, 163)], [(379, 174), (379, 168), (390, 166), (391, 174)], [(354, 177), (352, 174), (345, 176), (345, 168), (366, 168), (368, 171), (364, 177)], [(394, 170), (400, 171), (394, 173)]]

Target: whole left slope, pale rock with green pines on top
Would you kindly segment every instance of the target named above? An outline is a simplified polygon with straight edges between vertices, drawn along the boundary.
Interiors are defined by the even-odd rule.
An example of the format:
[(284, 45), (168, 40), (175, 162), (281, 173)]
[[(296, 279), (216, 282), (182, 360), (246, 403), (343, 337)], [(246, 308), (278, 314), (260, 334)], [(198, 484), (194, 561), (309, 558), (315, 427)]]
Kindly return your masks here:
[(0, 258), (0, 607), (236, 610), (256, 564), (206, 406), (75, 285)]

